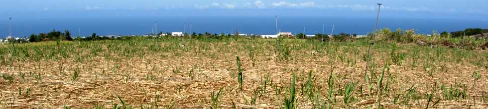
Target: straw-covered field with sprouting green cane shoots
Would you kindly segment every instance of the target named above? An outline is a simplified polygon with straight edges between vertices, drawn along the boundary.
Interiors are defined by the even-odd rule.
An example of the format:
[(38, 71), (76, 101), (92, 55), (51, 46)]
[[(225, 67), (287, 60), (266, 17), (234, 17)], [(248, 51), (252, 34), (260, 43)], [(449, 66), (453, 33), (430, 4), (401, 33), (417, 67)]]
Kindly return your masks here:
[(488, 52), (366, 40), (0, 45), (0, 109), (488, 108)]

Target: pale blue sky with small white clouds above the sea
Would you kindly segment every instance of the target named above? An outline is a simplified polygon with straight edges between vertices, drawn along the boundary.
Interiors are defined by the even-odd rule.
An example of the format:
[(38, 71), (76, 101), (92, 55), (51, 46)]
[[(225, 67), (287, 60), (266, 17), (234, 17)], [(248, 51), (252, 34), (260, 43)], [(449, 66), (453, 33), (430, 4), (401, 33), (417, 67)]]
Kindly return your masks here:
[(3, 0), (0, 17), (346, 16), (488, 19), (488, 0)]

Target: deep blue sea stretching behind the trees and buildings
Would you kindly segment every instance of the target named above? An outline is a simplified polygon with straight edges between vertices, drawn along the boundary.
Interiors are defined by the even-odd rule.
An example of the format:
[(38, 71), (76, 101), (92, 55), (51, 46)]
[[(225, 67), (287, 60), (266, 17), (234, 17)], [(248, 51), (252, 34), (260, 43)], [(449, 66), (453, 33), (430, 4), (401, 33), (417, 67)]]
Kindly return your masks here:
[[(8, 35), (8, 20), (0, 20), (0, 37)], [(157, 21), (158, 30), (162, 32), (197, 33), (231, 33), (242, 34), (275, 34), (274, 16), (167, 16), (167, 17), (104, 17), (104, 18), (17, 18), (12, 19), (12, 36), (29, 36), (30, 34), (47, 33), (53, 29), (69, 30), (72, 36), (98, 35), (144, 35), (151, 34), (151, 28)], [(278, 19), (282, 32), (306, 34), (351, 33), (365, 35), (374, 29), (375, 18), (361, 17), (314, 17), (283, 16)], [(430, 34), (433, 30), (459, 31), (465, 28), (488, 28), (487, 20), (470, 19), (433, 19), (433, 18), (383, 18), (380, 17), (378, 28), (395, 30), (415, 29), (417, 33)], [(79, 31), (80, 30), (80, 31)]]

